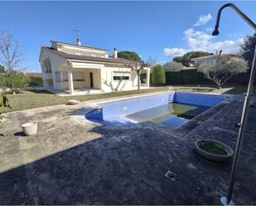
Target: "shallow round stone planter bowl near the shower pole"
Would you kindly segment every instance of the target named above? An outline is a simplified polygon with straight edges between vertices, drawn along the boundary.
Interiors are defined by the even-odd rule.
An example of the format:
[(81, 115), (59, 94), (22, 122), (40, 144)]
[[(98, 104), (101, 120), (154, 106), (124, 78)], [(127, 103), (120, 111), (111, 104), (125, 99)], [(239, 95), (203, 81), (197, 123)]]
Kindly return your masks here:
[[(213, 153), (210, 153), (209, 151), (205, 151), (201, 149), (200, 146), (205, 144), (219, 146), (221, 149), (223, 149), (227, 153), (227, 155), (224, 155), (224, 156), (215, 155)], [(203, 156), (205, 159), (211, 160), (211, 161), (218, 161), (218, 162), (229, 160), (234, 154), (234, 151), (230, 146), (227, 146), (220, 141), (208, 140), (208, 139), (202, 139), (202, 140), (196, 141), (196, 151), (198, 151), (200, 156)]]

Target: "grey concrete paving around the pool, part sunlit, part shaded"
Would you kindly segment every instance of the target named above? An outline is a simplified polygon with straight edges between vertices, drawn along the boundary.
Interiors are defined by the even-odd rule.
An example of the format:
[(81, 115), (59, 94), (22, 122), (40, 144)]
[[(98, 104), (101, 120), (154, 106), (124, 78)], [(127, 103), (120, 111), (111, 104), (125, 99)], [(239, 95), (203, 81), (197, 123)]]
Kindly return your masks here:
[[(254, 99), (255, 101), (255, 99)], [(0, 204), (220, 204), (231, 162), (213, 163), (194, 149), (212, 138), (234, 147), (243, 98), (222, 103), (179, 129), (77, 123), (92, 103), (9, 113), (0, 137)], [(256, 204), (256, 103), (234, 186), (236, 204)], [(39, 122), (36, 136), (20, 125)], [(176, 180), (165, 174), (171, 170)]]

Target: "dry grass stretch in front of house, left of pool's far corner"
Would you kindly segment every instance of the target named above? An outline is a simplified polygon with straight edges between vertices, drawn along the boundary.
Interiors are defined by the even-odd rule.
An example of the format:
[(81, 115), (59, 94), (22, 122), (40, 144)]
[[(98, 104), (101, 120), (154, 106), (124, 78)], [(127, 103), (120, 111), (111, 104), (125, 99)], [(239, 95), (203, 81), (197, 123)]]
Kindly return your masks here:
[(46, 90), (41, 91), (23, 91), (23, 93), (17, 93), (16, 95), (7, 94), (9, 103), (12, 108), (0, 108), (0, 113), (6, 113), (17, 110), (24, 110), (29, 108), (41, 108), (51, 105), (58, 105), (67, 103), (70, 99), (79, 99), (80, 101), (88, 101), (101, 98), (114, 98), (125, 95), (138, 94), (138, 93), (151, 93), (151, 92), (164, 92), (167, 91), (165, 87), (159, 87), (156, 89), (142, 89), (141, 91), (123, 91), (114, 93), (97, 93), (81, 96), (60, 97), (54, 93), (50, 93)]

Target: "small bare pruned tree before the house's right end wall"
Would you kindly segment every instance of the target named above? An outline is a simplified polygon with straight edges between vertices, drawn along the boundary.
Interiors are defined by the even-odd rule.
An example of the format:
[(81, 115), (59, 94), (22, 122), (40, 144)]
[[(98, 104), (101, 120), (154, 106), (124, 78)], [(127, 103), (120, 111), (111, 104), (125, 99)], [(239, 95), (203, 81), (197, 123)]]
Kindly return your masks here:
[(130, 69), (133, 69), (137, 73), (137, 78), (138, 78), (138, 91), (140, 90), (140, 84), (141, 84), (141, 74), (142, 70), (145, 69), (145, 67), (151, 67), (152, 65), (156, 64), (156, 60), (152, 59), (152, 57), (149, 57), (147, 62), (142, 61), (142, 62), (136, 62), (136, 63), (129, 63), (129, 64), (124, 64)]

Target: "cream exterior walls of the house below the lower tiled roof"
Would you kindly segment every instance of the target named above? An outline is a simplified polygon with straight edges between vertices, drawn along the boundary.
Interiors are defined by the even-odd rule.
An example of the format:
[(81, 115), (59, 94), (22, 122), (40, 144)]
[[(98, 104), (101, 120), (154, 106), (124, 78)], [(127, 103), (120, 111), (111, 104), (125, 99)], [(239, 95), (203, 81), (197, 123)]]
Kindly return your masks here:
[[(49, 59), (51, 61), (51, 74), (43, 74), (43, 79), (53, 79), (54, 89), (69, 89), (68, 81), (63, 81), (67, 78), (67, 61), (53, 53), (49, 50), (41, 50), (40, 62), (41, 65), (43, 61)], [(56, 81), (56, 72), (60, 72), (61, 81)], [(129, 74), (128, 80), (114, 80), (113, 76), (116, 75), (115, 72), (126, 72)], [(74, 69), (72, 68), (73, 79), (85, 79), (85, 81), (74, 81), (74, 89), (90, 88), (89, 73), (93, 73), (94, 76), (94, 89), (101, 89), (105, 92), (111, 91), (122, 91), (124, 89), (133, 89), (137, 86), (137, 74), (132, 69), (125, 68), (122, 66), (110, 66), (104, 65), (102, 69)], [(125, 74), (127, 75), (127, 74)], [(83, 76), (81, 78), (81, 76)]]

